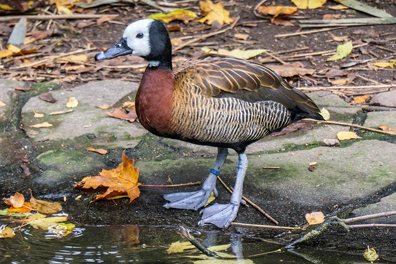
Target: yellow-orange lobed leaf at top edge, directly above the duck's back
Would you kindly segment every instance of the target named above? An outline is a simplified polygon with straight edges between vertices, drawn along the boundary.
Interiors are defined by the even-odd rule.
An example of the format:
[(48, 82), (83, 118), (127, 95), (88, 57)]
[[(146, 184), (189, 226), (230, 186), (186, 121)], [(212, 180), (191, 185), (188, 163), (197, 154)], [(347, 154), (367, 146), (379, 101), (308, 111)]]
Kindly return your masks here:
[(205, 16), (198, 20), (200, 23), (206, 23), (211, 25), (213, 21), (218, 21), (221, 25), (230, 24), (234, 20), (229, 17), (229, 12), (224, 9), (223, 4), (218, 2), (213, 4), (212, 1), (200, 1), (201, 10)]

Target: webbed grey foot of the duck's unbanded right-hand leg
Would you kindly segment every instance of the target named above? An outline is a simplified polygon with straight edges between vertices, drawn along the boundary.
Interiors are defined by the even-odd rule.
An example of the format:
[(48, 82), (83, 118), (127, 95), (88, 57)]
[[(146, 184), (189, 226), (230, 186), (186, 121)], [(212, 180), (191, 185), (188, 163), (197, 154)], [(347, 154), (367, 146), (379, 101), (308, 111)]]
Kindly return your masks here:
[(199, 225), (214, 224), (220, 228), (226, 228), (237, 217), (239, 204), (214, 204), (201, 211), (202, 219)]

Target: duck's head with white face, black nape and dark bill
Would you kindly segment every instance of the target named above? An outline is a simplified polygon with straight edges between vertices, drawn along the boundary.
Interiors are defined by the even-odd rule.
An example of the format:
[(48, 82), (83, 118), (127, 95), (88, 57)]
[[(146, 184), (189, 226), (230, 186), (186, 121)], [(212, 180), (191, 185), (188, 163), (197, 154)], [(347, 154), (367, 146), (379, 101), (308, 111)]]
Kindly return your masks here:
[(95, 60), (136, 55), (148, 61), (148, 67), (172, 69), (172, 44), (165, 25), (154, 19), (142, 19), (129, 24), (120, 41), (97, 53)]

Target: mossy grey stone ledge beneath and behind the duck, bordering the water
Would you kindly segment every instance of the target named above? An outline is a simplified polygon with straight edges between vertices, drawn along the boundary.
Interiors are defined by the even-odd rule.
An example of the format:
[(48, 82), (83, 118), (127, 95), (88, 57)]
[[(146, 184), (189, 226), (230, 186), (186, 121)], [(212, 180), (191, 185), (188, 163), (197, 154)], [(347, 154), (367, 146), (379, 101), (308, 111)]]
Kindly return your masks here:
[[(28, 196), (28, 188), (31, 188), (36, 197), (61, 202), (70, 221), (81, 225), (182, 224), (216, 230), (210, 226), (197, 226), (199, 211), (162, 207), (165, 203), (162, 194), (194, 191), (200, 186), (141, 187), (139, 199), (130, 204), (128, 199), (120, 199), (117, 204), (111, 201), (89, 204), (94, 195), (104, 189), (73, 188), (74, 182), (85, 176), (97, 175), (102, 169), (116, 168), (124, 149), (130, 158), (135, 158), (140, 170), (139, 181), (143, 184), (164, 185), (169, 184), (169, 179), (174, 184), (180, 184), (203, 181), (207, 177), (215, 160), (215, 148), (156, 137), (147, 133), (138, 122), (111, 118), (105, 114), (109, 110), (95, 107), (104, 104), (119, 107), (124, 101), (134, 101), (138, 84), (103, 81), (92, 82), (71, 91), (42, 88), (25, 97), (8, 95), (15, 85), (24, 84), (0, 82), (0, 91), (8, 96), (3, 96), (2, 100), (9, 107), (0, 108), (3, 111), (0, 113), (7, 118), (0, 119), (2, 197), (16, 191)], [(39, 99), (40, 93), (48, 91), (57, 100), (56, 103)], [(324, 107), (330, 112), (331, 120), (353, 122), (357, 115), (363, 115), (366, 126), (384, 124), (396, 127), (395, 112), (372, 112), (366, 115), (336, 94), (315, 92), (309, 96), (320, 108)], [(69, 97), (76, 97), (79, 101), (73, 112), (49, 115), (54, 111), (68, 110), (65, 103)], [(45, 116), (34, 118), (33, 109)], [(53, 123), (54, 126), (29, 127), (42, 122)], [(313, 123), (312, 129), (303, 128), (287, 135), (268, 137), (250, 145), (247, 148), (249, 165), (244, 194), (279, 220), (281, 225), (287, 226), (304, 223), (304, 215), (313, 211), (325, 214), (337, 211), (342, 217), (353, 217), (394, 210), (396, 140), (390, 136), (357, 131), (362, 137), (360, 140), (341, 141), (339, 147), (322, 146), (324, 139), (337, 139), (337, 131), (348, 130), (346, 126)], [(102, 147), (110, 151), (100, 155), (86, 151), (86, 147)], [(237, 156), (233, 150), (229, 152), (221, 177), (232, 186)], [(29, 160), (27, 166), (30, 176), (23, 175), (20, 170), (19, 165), (24, 158)], [(317, 162), (313, 171), (308, 170), (311, 162)], [(263, 169), (267, 166), (280, 169)], [(215, 202), (227, 203), (230, 194), (219, 183), (217, 189), (219, 197)], [(82, 195), (82, 198), (75, 200), (78, 195)], [(63, 202), (63, 196), (67, 197), (67, 202)], [(236, 221), (272, 224), (254, 208), (244, 206), (241, 206)], [(394, 223), (395, 216), (375, 222)], [(245, 234), (256, 232), (236, 226), (230, 226), (229, 230)], [(260, 232), (268, 238), (279, 234), (274, 230)], [(377, 248), (382, 246), (388, 250), (388, 254), (396, 254), (396, 251), (389, 249), (389, 242), (379, 239), (381, 235), (395, 236), (394, 228), (376, 229), (376, 235), (371, 237), (362, 236), (362, 232), (353, 230), (347, 235), (342, 228), (335, 228), (323, 234), (325, 239), (319, 237), (310, 243), (337, 246), (337, 241), (343, 240), (351, 248), (359, 248), (362, 243), (376, 243)], [(292, 236), (295, 239), (298, 234)]]

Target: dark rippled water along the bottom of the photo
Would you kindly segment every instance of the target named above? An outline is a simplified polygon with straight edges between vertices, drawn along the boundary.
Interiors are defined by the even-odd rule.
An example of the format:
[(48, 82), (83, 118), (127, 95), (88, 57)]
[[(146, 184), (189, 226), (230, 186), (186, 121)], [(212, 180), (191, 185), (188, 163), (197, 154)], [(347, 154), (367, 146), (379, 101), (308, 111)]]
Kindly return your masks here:
[[(362, 251), (300, 248), (268, 253), (281, 245), (221, 230), (197, 229), (191, 233), (206, 247), (233, 244), (221, 252), (245, 260), (202, 262), (203, 254), (197, 249), (168, 254), (170, 244), (186, 241), (172, 226), (84, 226), (63, 238), (26, 226), (14, 238), (0, 239), (0, 263), (369, 263)], [(253, 256), (262, 253), (268, 254)]]

